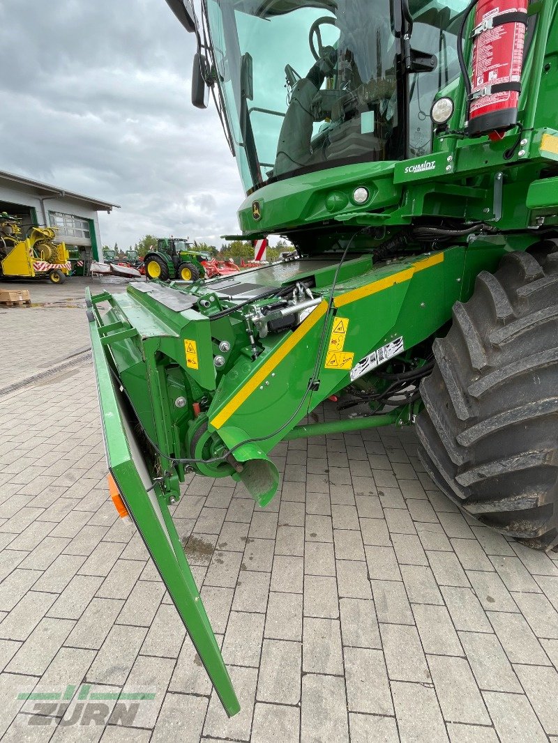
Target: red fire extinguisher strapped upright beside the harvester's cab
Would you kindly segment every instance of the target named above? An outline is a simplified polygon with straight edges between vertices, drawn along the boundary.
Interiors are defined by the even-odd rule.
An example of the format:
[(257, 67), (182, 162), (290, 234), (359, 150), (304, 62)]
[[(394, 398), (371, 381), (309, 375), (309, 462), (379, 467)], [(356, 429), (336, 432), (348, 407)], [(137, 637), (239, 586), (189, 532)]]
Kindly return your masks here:
[(517, 123), (527, 0), (479, 0), (472, 42), (469, 134)]

